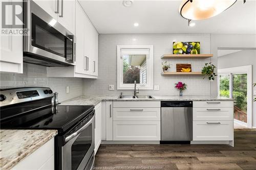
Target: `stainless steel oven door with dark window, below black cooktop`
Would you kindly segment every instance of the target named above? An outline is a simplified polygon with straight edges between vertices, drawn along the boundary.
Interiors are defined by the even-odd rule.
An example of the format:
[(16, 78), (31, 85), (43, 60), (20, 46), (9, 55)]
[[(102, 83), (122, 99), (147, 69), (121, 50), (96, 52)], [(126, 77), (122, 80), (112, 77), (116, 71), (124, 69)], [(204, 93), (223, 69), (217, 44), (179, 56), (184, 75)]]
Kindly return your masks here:
[[(65, 138), (62, 150), (62, 170), (84, 170), (94, 159), (95, 116)], [(94, 160), (93, 160), (94, 162)], [(91, 166), (91, 165), (90, 165)], [(89, 167), (92, 169), (92, 166)]]

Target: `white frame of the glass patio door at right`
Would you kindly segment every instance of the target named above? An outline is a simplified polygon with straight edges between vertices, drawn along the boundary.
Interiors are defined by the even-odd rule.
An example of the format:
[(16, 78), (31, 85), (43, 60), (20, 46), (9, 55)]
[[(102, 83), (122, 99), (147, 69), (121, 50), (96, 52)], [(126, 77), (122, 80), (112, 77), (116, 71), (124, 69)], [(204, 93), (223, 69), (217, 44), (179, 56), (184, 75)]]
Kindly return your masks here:
[[(218, 75), (229, 75), (229, 86), (231, 84), (230, 79), (232, 78), (230, 76), (233, 74), (247, 74), (247, 124), (244, 124), (246, 124), (248, 128), (252, 128), (252, 65), (218, 69)], [(218, 82), (220, 82), (220, 80), (218, 80)], [(218, 84), (218, 88), (219, 87), (220, 85)], [(218, 89), (218, 95), (220, 95), (219, 91)]]

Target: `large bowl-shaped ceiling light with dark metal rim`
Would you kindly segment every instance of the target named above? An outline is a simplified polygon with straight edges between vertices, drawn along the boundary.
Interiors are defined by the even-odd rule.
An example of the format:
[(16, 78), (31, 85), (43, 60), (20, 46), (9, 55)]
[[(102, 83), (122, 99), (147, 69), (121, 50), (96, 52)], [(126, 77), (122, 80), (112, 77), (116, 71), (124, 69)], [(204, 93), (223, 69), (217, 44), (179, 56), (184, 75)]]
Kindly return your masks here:
[(237, 0), (183, 0), (179, 12), (185, 19), (207, 19), (222, 13), (236, 2)]

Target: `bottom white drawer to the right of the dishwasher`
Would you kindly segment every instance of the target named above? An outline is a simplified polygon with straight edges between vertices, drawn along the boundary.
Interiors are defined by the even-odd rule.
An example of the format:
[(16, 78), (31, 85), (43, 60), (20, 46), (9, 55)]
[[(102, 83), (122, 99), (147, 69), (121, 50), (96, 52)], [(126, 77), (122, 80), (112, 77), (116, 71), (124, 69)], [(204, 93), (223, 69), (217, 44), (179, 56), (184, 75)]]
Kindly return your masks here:
[(193, 121), (193, 140), (233, 140), (233, 121)]

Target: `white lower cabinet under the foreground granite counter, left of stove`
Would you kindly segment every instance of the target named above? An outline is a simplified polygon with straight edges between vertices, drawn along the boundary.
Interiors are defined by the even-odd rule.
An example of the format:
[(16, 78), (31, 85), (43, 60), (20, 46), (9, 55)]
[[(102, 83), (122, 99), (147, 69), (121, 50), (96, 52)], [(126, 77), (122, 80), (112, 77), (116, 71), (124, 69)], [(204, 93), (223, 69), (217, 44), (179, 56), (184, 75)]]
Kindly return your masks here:
[(17, 163), (12, 170), (54, 170), (54, 138)]

